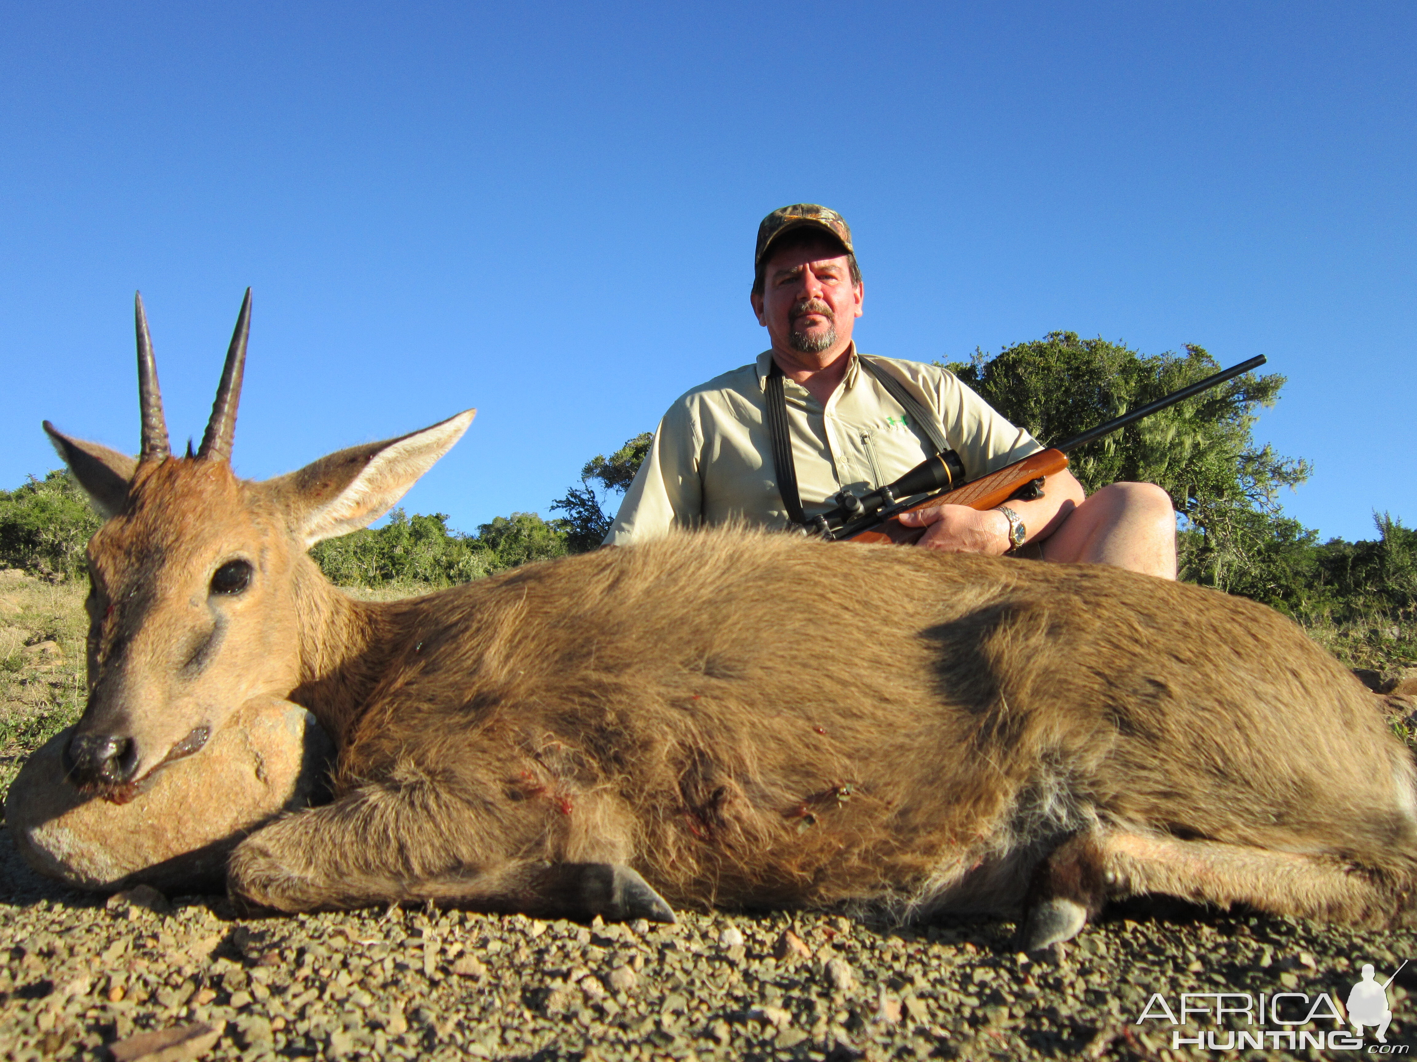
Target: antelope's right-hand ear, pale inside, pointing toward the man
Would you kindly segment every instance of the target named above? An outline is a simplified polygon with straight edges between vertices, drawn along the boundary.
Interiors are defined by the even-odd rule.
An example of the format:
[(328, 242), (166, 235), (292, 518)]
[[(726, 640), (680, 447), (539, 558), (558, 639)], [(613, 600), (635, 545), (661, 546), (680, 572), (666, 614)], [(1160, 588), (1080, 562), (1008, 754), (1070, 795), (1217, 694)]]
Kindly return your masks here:
[(466, 409), (412, 435), (339, 450), (266, 486), (276, 493), (290, 527), (309, 549), (326, 538), (357, 531), (391, 510), (462, 438), (476, 412)]

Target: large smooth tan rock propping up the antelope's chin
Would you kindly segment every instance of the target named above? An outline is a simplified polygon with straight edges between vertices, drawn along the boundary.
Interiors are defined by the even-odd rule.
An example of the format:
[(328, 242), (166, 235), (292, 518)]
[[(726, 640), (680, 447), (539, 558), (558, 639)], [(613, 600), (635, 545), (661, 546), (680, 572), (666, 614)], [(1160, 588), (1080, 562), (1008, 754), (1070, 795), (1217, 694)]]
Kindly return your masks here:
[(256, 700), (201, 752), (160, 767), (118, 804), (68, 782), (69, 733), (57, 733), (21, 767), (6, 794), (6, 826), (35, 871), (98, 891), (220, 888), (227, 855), (245, 834), (323, 794), (334, 752), (305, 708)]

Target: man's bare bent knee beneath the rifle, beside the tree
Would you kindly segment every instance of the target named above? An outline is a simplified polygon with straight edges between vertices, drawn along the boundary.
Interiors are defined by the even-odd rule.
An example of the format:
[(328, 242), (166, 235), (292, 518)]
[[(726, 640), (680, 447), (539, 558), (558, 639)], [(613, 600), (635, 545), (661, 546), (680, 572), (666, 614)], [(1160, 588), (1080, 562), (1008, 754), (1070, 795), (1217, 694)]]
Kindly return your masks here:
[(1114, 483), (1083, 501), (1043, 541), (1046, 561), (1110, 564), (1176, 578), (1176, 511), (1153, 483)]

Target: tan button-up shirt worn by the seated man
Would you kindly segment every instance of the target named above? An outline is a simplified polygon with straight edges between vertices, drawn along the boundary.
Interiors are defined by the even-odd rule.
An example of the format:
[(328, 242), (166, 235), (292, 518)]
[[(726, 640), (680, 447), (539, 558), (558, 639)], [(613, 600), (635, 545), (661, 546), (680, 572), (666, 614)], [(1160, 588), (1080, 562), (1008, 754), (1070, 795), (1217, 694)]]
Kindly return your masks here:
[[(862, 370), (852, 348), (840, 387), (823, 408), (784, 377), (802, 508), (808, 517), (836, 506), (843, 487), (856, 494), (893, 483), (930, 455), (900, 404)], [(935, 413), (969, 479), (1002, 469), (1043, 447), (1015, 428), (954, 372), (918, 361), (877, 358)], [(772, 470), (764, 421), (772, 354), (724, 372), (682, 395), (665, 413), (655, 445), (625, 493), (605, 542), (626, 545), (670, 527), (743, 520), (789, 527)]]

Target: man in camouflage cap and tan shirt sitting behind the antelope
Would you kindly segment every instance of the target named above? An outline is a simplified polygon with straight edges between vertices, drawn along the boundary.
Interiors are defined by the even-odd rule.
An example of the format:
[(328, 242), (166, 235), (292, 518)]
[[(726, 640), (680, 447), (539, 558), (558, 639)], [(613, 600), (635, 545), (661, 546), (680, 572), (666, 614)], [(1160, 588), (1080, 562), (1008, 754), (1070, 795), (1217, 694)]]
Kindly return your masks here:
[[(798, 498), (811, 520), (833, 508), (842, 490), (863, 494), (891, 483), (935, 452), (930, 429), (905, 404), (935, 422), (969, 479), (1043, 449), (947, 370), (863, 361), (852, 329), (864, 286), (850, 228), (836, 211), (806, 202), (772, 211), (758, 227), (754, 270), (752, 312), (771, 348), (669, 408), (606, 544), (731, 520), (786, 528)], [(901, 388), (905, 404), (891, 395)], [(772, 456), (774, 401), (785, 405), (796, 497)], [(1114, 483), (1085, 497), (1077, 479), (1060, 472), (1030, 501), (986, 511), (938, 504), (901, 523), (924, 527), (920, 545), (930, 549), (1091, 561), (1176, 578), (1176, 515), (1149, 483)]]

